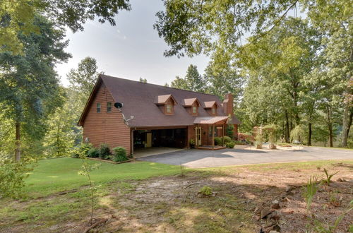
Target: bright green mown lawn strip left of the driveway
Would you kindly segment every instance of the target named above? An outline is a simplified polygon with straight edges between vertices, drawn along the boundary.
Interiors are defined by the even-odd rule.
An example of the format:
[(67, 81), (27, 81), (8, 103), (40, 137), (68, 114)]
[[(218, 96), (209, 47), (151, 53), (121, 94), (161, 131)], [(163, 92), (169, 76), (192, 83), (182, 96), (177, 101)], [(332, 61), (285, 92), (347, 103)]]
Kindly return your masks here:
[[(95, 163), (92, 160), (88, 162)], [(100, 162), (100, 164), (99, 169), (92, 171), (91, 177), (96, 184), (126, 179), (147, 179), (180, 172), (179, 166), (154, 162), (130, 162), (119, 165)], [(37, 198), (88, 185), (87, 177), (78, 174), (81, 165), (80, 159), (73, 158), (40, 160), (26, 180), (24, 191), (28, 197)]]

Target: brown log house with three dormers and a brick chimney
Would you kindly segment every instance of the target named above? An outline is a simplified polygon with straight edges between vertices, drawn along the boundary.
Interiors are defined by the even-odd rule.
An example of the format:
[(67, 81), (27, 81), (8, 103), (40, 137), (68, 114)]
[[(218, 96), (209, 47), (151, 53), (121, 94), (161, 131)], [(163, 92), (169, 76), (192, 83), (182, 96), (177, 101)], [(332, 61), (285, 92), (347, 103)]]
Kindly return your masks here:
[(85, 142), (121, 146), (130, 155), (136, 148), (190, 148), (191, 139), (196, 148), (222, 148), (214, 137), (224, 136), (228, 124), (237, 137), (232, 94), (221, 102), (215, 95), (103, 74), (78, 121)]

